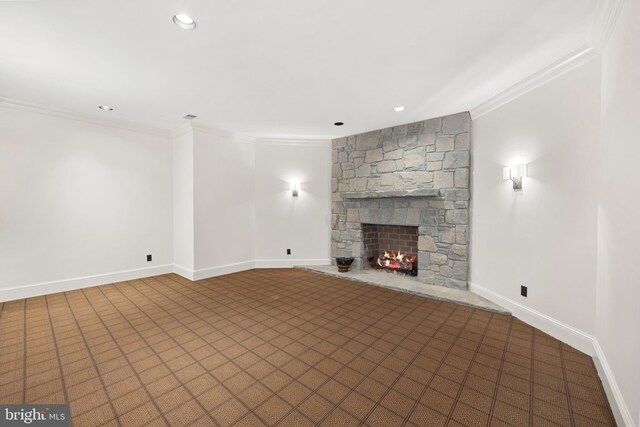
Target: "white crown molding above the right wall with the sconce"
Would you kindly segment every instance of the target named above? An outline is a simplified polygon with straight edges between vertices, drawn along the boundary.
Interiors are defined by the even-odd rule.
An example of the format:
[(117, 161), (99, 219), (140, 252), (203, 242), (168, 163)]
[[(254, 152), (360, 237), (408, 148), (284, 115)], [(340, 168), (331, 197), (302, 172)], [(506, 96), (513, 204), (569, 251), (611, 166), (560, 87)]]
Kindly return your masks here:
[(499, 94), (489, 98), (480, 105), (470, 110), (473, 120), (502, 107), (503, 105), (513, 101), (516, 98), (542, 86), (543, 84), (554, 80), (561, 75), (586, 64), (597, 56), (596, 50), (590, 46), (583, 46), (580, 49), (570, 53), (569, 55), (559, 59), (553, 64), (539, 70), (529, 77), (521, 80), (510, 88), (500, 92)]

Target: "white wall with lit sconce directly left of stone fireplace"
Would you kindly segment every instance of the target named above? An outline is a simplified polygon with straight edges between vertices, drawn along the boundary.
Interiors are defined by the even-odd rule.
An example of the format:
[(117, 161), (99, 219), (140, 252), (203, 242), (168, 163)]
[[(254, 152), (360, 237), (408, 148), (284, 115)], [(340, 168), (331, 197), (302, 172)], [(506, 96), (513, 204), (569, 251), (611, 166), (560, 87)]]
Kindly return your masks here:
[(255, 174), (256, 265), (328, 264), (331, 142), (258, 140)]

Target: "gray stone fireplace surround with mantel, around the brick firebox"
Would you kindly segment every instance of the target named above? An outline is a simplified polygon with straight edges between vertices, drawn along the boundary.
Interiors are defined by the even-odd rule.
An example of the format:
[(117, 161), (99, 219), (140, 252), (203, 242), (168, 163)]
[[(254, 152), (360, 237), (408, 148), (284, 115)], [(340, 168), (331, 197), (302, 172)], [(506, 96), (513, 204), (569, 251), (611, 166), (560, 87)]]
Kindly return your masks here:
[(418, 280), (467, 289), (470, 132), (464, 112), (334, 139), (333, 262), (363, 268), (363, 223), (414, 225)]

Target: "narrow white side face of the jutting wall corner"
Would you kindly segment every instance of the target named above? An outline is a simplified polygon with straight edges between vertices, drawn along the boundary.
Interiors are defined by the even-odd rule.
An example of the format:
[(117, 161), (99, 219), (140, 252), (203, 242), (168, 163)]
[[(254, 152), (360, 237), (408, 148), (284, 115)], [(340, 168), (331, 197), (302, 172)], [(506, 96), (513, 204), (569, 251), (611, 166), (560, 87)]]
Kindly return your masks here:
[(194, 264), (193, 130), (185, 126), (172, 138), (173, 152), (173, 263), (190, 276)]

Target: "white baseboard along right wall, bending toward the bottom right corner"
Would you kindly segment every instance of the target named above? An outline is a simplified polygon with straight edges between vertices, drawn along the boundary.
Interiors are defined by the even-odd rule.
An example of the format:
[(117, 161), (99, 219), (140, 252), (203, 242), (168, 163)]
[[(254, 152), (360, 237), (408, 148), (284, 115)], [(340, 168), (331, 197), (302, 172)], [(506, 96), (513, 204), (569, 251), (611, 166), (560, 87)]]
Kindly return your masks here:
[(622, 396), (622, 392), (620, 391), (618, 383), (613, 375), (613, 371), (607, 362), (607, 358), (605, 357), (598, 340), (594, 336), (547, 316), (544, 313), (540, 313), (537, 310), (526, 307), (517, 301), (506, 298), (494, 291), (478, 285), (477, 283), (468, 283), (469, 290), (471, 292), (509, 309), (515, 317), (523, 322), (528, 323), (541, 331), (546, 332), (552, 337), (557, 338), (560, 341), (565, 342), (593, 357), (617, 424), (620, 426), (636, 427), (624, 397)]

